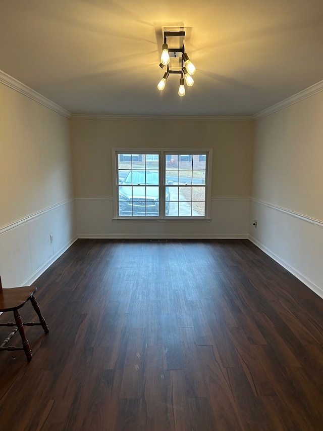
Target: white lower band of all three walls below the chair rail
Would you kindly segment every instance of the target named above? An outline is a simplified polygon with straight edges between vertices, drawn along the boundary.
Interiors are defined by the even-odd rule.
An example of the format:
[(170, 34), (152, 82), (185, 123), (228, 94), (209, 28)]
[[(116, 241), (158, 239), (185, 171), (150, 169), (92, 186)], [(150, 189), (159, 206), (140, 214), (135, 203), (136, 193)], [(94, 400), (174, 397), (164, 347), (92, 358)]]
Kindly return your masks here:
[(3, 285), (31, 284), (77, 237), (249, 237), (323, 298), (323, 222), (249, 198), (213, 198), (210, 221), (187, 222), (115, 221), (112, 198), (71, 199), (0, 229)]

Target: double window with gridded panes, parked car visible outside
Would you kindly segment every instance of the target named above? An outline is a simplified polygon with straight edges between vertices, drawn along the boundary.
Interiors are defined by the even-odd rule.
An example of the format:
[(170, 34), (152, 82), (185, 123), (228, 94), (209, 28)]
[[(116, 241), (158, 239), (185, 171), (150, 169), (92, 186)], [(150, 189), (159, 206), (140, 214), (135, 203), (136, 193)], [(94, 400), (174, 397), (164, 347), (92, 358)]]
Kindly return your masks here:
[(209, 218), (211, 150), (113, 151), (115, 218)]

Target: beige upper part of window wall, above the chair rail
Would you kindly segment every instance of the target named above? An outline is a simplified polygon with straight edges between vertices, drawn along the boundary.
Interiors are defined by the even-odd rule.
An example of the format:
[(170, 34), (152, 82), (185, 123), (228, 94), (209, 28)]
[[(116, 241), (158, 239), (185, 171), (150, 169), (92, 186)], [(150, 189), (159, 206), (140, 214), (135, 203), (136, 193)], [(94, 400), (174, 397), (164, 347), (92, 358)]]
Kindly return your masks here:
[(76, 197), (112, 197), (112, 148), (212, 148), (212, 197), (251, 194), (252, 121), (71, 120)]

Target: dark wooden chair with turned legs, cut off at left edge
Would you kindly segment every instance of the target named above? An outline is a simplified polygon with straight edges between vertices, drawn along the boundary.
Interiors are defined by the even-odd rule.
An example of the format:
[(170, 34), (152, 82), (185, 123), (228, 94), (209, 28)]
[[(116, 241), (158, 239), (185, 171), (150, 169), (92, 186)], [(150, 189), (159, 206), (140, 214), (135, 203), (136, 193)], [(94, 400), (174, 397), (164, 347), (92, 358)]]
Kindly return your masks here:
[[(0, 351), (24, 350), (28, 361), (31, 361), (32, 354), (31, 354), (28, 340), (26, 339), (26, 336), (25, 336), (24, 325), (25, 326), (41, 325), (45, 333), (49, 332), (48, 326), (39, 310), (39, 306), (36, 301), (36, 298), (34, 297), (34, 293), (36, 292), (36, 290), (37, 288), (35, 286), (24, 286), (22, 288), (3, 289), (1, 277), (0, 277), (0, 312), (13, 311), (14, 317), (15, 317), (15, 323), (0, 323), (0, 326), (16, 326), (15, 329), (9, 334), (9, 336), (5, 339), (3, 344), (0, 346)], [(38, 322), (23, 323), (18, 309), (23, 307), (27, 301), (30, 301), (32, 306), (34, 307), (35, 312), (39, 317), (39, 323)], [(19, 331), (20, 333), (22, 346), (5, 347), (6, 344), (9, 342), (9, 340), (15, 335), (17, 331)]]

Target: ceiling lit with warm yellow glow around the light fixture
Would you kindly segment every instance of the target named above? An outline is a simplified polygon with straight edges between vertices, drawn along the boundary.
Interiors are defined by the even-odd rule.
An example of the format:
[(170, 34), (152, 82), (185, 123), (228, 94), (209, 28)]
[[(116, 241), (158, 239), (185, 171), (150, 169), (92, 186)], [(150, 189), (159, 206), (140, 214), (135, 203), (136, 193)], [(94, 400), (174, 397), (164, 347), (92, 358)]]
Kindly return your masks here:
[[(156, 85), (162, 27), (197, 71)], [(0, 69), (72, 113), (252, 115), (323, 79), (322, 0), (2, 0)]]

